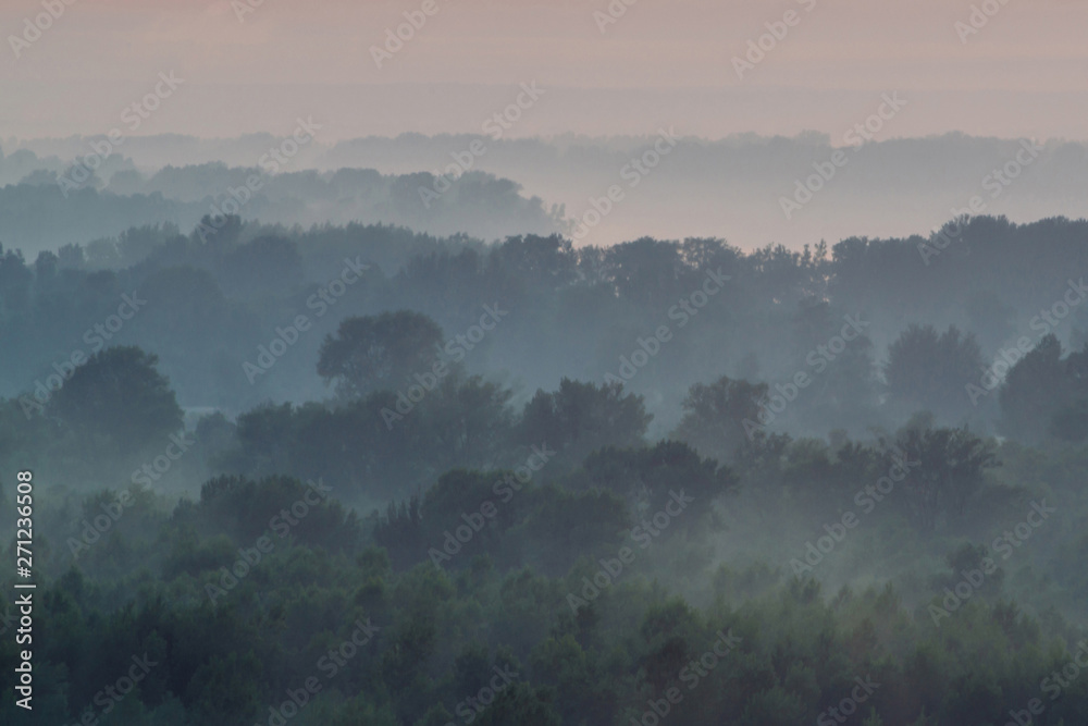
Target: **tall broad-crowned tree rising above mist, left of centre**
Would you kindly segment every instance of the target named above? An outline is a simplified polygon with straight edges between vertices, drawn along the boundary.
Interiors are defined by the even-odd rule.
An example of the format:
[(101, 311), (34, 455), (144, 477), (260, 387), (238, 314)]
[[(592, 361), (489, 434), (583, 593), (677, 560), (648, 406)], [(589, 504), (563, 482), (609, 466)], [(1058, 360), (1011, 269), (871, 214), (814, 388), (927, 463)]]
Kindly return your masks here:
[(397, 310), (347, 318), (321, 344), (318, 374), (347, 401), (434, 376), (442, 328), (422, 312)]

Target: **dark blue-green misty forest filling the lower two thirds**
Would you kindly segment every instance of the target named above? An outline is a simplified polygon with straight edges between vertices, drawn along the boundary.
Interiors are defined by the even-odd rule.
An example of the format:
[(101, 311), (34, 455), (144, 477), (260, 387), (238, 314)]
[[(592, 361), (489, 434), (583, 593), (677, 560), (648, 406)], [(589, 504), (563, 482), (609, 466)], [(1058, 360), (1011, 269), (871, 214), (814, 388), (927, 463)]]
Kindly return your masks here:
[[(341, 174), (321, 183), (351, 182)], [(487, 187), (466, 182), (465, 198)], [(401, 200), (416, 189), (403, 186)], [(975, 220), (963, 244), (982, 249), (984, 239), (1043, 233), (1067, 258), (1083, 255), (1083, 227), (1058, 222)], [(871, 342), (862, 336), (790, 402), (780, 423), (796, 424), (793, 435), (745, 430), (772, 390), (758, 379), (792, 380), (791, 370), (757, 371), (755, 352), (777, 349), (774, 331), (794, 325), (779, 357), (805, 369), (805, 354), (837, 333), (844, 309), (874, 309), (897, 325), (926, 319), (929, 303), (897, 279), (881, 283), (887, 300), (868, 297), (889, 260), (910, 253), (916, 262), (913, 242), (845, 241), (829, 260), (826, 247), (745, 255), (714, 239), (644, 238), (573, 249), (531, 235), (482, 245), (236, 218), (207, 243), (197, 236), (163, 226), (33, 266), (17, 253), (0, 256), (10, 387), (33, 389), (54, 350), (70, 349), (95, 316), (112, 315), (116, 297), (140, 286), (157, 305), (140, 311), (148, 322), (133, 325), (133, 340), (161, 356), (183, 399), (238, 411), (234, 421), (220, 414), (197, 424), (199, 453), (174, 470), (189, 499), (127, 483), (182, 423), (156, 355), (95, 355), (47, 416), (0, 402), (0, 466), (33, 467), (44, 482), (36, 707), (16, 711), (15, 674), (4, 668), (0, 723), (54, 726), (88, 712), (107, 725), (269, 723), (313, 678), (321, 688), (292, 724), (445, 726), (469, 714), (479, 724), (627, 726), (676, 688), (683, 698), (668, 724), (792, 726), (819, 723), (855, 679), (871, 678), (879, 688), (856, 723), (997, 724), (1040, 697), (1084, 638), (1088, 348), (1063, 358), (1056, 337), (1043, 337), (1010, 371), (1000, 404), (1013, 440), (1001, 444), (944, 424), (974, 416), (964, 385), (982, 372), (978, 343), (954, 327), (911, 327), (892, 344), (890, 405), (874, 395)], [(358, 299), (314, 317), (318, 332), (252, 386), (238, 384), (240, 362), (268, 343), (250, 331), (307, 309), (314, 286), (359, 250), (394, 276), (375, 270), (353, 290)], [(669, 306), (719, 267), (737, 290), (724, 290), (684, 334), (676, 325), (630, 389), (590, 382), (599, 380), (597, 364), (613, 365), (614, 340), (628, 346), (655, 316), (676, 320)], [(442, 359), (443, 330), (479, 320), (481, 291), (511, 316), (468, 365), (485, 370), (494, 358), (517, 374), (450, 366), (405, 410), (398, 394)], [(977, 304), (985, 297), (972, 299), (968, 317), (989, 320), (989, 337), (1003, 340), (1004, 311), (990, 320)], [(194, 344), (206, 330), (212, 342)], [(666, 356), (677, 361), (668, 378), (656, 366)], [(741, 365), (751, 369), (743, 378), (722, 374)], [(556, 370), (570, 376), (536, 390)], [(320, 397), (320, 378), (337, 399), (274, 403)], [(713, 383), (691, 384), (700, 380)], [(647, 442), (647, 401), (677, 409), (679, 420), (663, 429), (677, 440)], [(935, 416), (881, 433), (918, 407)], [(885, 429), (856, 438), (868, 423)], [(820, 438), (840, 427), (851, 433)], [(895, 471), (905, 476), (893, 481)], [(858, 492), (887, 482), (892, 491), (871, 500), (879, 509), (864, 509)], [(692, 508), (640, 546), (635, 528), (645, 531), (681, 490)], [(1025, 514), (1044, 497), (1059, 510), (1028, 530), (1015, 558), (973, 583), (964, 573), (996, 558), (994, 534), (1024, 531)], [(12, 505), (4, 478), (0, 533), (9, 543)], [(839, 524), (848, 514), (858, 520), (849, 530)], [(103, 516), (109, 527), (97, 532), (91, 522)], [(793, 577), (790, 561), (821, 538), (834, 546), (820, 551), (815, 575)], [(271, 546), (258, 563), (262, 541)], [(957, 595), (935, 623), (929, 607), (963, 592), (965, 577), (970, 596)], [(209, 588), (219, 589), (214, 599)], [(589, 602), (576, 612), (571, 594)], [(9, 635), (3, 616), (13, 614), (10, 602), (0, 605)], [(359, 644), (362, 624), (376, 630)], [(725, 632), (739, 645), (704, 665)], [(102, 713), (98, 694), (134, 657), (156, 665)], [(5, 635), (0, 662), (14, 660)], [(496, 669), (516, 675), (497, 687)], [(1088, 723), (1086, 704), (1081, 676), (1037, 721)]]

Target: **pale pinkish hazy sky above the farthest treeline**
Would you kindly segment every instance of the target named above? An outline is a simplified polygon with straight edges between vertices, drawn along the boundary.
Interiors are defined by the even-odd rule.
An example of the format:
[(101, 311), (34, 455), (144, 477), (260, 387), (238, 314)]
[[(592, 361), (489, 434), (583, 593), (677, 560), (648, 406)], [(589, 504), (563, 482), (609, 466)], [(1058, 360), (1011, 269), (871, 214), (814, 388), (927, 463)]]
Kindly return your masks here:
[[(511, 135), (671, 124), (837, 139), (897, 90), (910, 108), (883, 137), (1088, 139), (1088, 2), (990, 2), (1000, 10), (964, 44), (955, 23), (973, 3), (959, 0), (615, 0), (626, 13), (604, 33), (605, 0), (435, 0), (379, 69), (371, 46), (423, 0), (263, 0), (243, 21), (246, 0), (75, 0), (18, 59), (10, 36), (45, 11), (3, 0), (0, 138), (123, 127), (124, 109), (173, 71), (184, 83), (137, 133), (285, 134), (297, 115), (323, 123), (323, 140), (479, 132), (536, 81), (545, 96)], [(794, 26), (738, 78), (731, 59), (788, 11)]]

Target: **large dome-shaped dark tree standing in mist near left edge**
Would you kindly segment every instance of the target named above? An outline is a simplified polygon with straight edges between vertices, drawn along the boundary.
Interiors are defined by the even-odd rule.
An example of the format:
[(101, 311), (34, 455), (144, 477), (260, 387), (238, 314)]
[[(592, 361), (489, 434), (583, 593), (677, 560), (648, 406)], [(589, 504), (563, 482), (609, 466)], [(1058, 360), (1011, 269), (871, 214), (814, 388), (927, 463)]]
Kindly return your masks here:
[(103, 438), (122, 452), (138, 452), (182, 428), (182, 408), (158, 356), (136, 346), (94, 354), (57, 392), (49, 410), (90, 443)]

